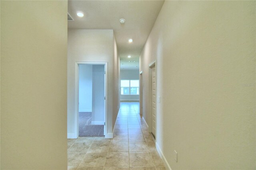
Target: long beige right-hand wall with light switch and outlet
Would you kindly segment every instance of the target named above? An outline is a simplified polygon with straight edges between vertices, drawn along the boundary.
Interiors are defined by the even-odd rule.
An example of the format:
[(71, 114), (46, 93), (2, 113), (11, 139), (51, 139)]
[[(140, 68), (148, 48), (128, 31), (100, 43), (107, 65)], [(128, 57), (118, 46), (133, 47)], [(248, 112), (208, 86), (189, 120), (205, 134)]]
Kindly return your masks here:
[(156, 143), (172, 169), (256, 168), (255, 9), (255, 1), (164, 2), (140, 71), (151, 125), (156, 59)]

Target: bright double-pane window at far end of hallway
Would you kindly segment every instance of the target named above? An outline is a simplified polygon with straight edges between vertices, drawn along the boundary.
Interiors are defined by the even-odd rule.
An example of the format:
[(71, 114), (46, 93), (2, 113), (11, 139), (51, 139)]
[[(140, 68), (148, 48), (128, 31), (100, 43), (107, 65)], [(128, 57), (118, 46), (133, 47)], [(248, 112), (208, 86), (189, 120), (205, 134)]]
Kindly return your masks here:
[(121, 95), (139, 95), (139, 80), (121, 80)]

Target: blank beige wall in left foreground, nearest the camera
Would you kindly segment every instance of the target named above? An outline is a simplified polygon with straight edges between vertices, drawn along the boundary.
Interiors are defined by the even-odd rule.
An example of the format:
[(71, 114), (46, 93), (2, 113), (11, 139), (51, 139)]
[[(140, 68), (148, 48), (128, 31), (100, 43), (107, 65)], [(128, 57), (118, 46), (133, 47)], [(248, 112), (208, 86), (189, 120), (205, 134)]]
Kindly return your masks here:
[(67, 168), (67, 1), (1, 0), (1, 169)]

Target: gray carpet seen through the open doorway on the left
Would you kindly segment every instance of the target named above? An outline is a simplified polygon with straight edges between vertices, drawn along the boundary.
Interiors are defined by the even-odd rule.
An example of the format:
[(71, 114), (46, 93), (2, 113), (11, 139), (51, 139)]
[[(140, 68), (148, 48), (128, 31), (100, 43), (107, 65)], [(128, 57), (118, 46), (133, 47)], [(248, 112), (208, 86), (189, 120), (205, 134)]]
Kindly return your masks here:
[(104, 125), (90, 125), (91, 112), (79, 112), (79, 136), (104, 136)]

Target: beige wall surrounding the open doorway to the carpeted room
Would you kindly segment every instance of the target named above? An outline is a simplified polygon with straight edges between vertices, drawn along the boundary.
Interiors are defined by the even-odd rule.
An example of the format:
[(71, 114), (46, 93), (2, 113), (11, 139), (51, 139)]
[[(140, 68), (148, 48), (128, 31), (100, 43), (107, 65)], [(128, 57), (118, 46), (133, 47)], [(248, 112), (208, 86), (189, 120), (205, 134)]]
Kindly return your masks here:
[[(68, 136), (75, 133), (75, 62), (108, 62), (108, 133), (113, 131), (116, 114), (116, 62), (113, 30), (68, 30)], [(116, 108), (116, 109), (114, 109)]]

